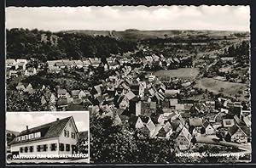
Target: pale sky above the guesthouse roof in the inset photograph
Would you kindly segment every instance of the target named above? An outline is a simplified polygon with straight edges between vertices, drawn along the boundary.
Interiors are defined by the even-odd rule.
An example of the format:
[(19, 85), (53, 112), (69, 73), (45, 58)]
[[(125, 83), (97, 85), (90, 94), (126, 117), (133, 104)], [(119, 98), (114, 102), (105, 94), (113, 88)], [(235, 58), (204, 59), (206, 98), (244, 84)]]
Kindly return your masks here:
[(29, 128), (41, 126), (49, 122), (73, 116), (79, 132), (89, 130), (89, 112), (9, 112), (6, 113), (6, 129), (21, 132)]

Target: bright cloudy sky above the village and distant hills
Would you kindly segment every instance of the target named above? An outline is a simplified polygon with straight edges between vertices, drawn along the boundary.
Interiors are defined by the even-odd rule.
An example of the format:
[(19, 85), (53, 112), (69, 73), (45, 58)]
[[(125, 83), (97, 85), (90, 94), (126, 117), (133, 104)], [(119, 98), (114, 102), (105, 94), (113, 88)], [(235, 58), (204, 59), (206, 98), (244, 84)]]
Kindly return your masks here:
[(6, 28), (250, 31), (249, 6), (9, 7)]

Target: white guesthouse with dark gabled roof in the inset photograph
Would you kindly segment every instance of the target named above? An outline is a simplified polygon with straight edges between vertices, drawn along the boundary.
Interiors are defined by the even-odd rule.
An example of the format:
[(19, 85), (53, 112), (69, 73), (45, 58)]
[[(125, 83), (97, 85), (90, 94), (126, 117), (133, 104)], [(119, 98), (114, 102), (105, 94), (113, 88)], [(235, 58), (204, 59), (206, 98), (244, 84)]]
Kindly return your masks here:
[(20, 132), (10, 142), (12, 154), (78, 154), (79, 131), (73, 116)]

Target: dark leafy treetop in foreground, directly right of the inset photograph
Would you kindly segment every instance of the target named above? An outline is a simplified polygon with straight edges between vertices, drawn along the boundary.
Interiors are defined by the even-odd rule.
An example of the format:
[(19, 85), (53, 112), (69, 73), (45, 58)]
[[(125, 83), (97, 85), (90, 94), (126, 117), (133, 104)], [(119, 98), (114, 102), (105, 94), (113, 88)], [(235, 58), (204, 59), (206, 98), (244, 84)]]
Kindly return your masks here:
[(110, 117), (90, 116), (91, 163), (133, 163), (137, 149), (123, 126), (113, 126)]

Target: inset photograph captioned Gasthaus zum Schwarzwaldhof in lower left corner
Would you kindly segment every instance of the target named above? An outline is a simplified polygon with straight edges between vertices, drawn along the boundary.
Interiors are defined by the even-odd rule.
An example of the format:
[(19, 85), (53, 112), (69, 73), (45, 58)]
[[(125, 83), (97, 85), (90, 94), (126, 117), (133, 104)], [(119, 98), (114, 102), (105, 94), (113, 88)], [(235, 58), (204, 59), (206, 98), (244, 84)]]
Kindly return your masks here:
[(7, 164), (89, 163), (89, 113), (9, 112)]

